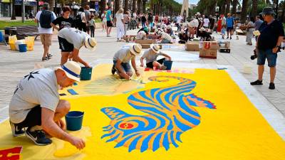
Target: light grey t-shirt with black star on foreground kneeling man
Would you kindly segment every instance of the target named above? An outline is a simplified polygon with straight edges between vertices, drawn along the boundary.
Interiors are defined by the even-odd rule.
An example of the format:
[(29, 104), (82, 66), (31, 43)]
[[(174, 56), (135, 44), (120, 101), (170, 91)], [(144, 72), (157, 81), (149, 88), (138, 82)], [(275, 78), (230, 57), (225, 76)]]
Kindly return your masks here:
[(50, 68), (36, 70), (24, 76), (9, 105), (11, 122), (23, 122), (28, 112), (37, 105), (55, 112), (59, 102), (58, 89), (56, 73)]

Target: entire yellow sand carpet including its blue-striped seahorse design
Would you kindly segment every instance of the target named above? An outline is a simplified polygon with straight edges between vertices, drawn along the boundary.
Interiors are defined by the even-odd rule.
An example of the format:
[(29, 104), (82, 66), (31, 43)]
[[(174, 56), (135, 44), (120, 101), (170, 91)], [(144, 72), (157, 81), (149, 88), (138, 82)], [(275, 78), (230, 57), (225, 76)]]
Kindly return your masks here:
[(111, 67), (98, 65), (92, 80), (60, 91), (71, 110), (84, 112), (83, 128), (68, 132), (85, 139), (85, 149), (55, 138), (35, 146), (12, 137), (6, 121), (0, 159), (285, 159), (284, 139), (227, 70), (150, 70), (125, 81), (110, 75)]

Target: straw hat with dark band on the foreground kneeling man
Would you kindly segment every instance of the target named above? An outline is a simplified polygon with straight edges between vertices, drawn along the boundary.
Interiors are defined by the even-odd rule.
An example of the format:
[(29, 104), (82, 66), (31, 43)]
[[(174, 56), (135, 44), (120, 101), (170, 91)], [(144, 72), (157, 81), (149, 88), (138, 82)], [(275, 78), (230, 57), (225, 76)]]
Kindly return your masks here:
[(63, 70), (68, 78), (80, 82), (81, 66), (74, 61), (68, 61), (61, 67), (55, 68), (55, 70)]

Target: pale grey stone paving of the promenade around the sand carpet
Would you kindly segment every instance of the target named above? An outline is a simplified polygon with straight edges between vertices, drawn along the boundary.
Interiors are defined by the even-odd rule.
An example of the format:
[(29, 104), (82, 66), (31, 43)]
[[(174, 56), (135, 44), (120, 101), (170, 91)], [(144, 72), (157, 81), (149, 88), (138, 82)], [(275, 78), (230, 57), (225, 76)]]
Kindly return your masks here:
[[(128, 31), (130, 34), (135, 34), (135, 31)], [(103, 60), (112, 63), (112, 58), (116, 50), (121, 46), (127, 44), (123, 42), (116, 42), (115, 28), (111, 33), (112, 37), (106, 37), (105, 32), (102, 29), (96, 29), (95, 38), (98, 41), (98, 47), (91, 53), (86, 48), (81, 49), (81, 58), (92, 63), (94, 60)], [(219, 38), (219, 35), (215, 35)], [(217, 60), (212, 59), (198, 59), (188, 60), (187, 58), (180, 60), (183, 63), (202, 63), (202, 64), (214, 64), (214, 65), (232, 65), (234, 68), (242, 73), (244, 65), (252, 66), (251, 74), (244, 74), (244, 78), (247, 80), (257, 80), (257, 60), (251, 60), (249, 57), (254, 50), (253, 46), (247, 46), (245, 43), (245, 36), (239, 36), (239, 40), (231, 40), (231, 53), (218, 53)], [(163, 48), (162, 48), (163, 49)], [(183, 47), (177, 49), (163, 49), (163, 50), (177, 50), (185, 51)], [(57, 36), (53, 35), (53, 44), (50, 49), (50, 53), (53, 54), (53, 58), (46, 62), (41, 62), (43, 48), (39, 39), (35, 41), (33, 51), (27, 53), (19, 53), (18, 51), (9, 50), (8, 46), (0, 45), (0, 122), (8, 115), (7, 105), (11, 99), (16, 84), (24, 75), (29, 73), (35, 68), (35, 65), (43, 65), (44, 67), (56, 67), (60, 63), (60, 50), (58, 49)], [(188, 52), (198, 55), (198, 52)], [(285, 54), (284, 50), (279, 53), (277, 62), (276, 73), (276, 90), (269, 90), (269, 68), (265, 68), (264, 72), (264, 85), (255, 87), (261, 95), (264, 95), (269, 102), (271, 102), (277, 110), (285, 115)], [(179, 55), (177, 54), (179, 57)]]

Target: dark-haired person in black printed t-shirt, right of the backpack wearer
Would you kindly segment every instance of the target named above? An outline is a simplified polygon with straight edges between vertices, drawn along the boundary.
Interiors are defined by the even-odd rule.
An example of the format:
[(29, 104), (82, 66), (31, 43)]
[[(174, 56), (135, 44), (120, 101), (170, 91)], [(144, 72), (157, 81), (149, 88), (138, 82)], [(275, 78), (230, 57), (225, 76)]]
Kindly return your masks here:
[[(51, 23), (51, 26), (53, 26), (53, 28), (56, 28), (56, 30), (58, 31), (60, 31), (62, 28), (73, 28), (74, 22), (73, 22), (73, 18), (69, 17), (70, 14), (71, 14), (71, 9), (69, 8), (69, 6), (64, 6), (63, 16), (56, 18)], [(58, 25), (59, 28), (56, 25)]]

